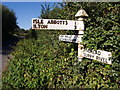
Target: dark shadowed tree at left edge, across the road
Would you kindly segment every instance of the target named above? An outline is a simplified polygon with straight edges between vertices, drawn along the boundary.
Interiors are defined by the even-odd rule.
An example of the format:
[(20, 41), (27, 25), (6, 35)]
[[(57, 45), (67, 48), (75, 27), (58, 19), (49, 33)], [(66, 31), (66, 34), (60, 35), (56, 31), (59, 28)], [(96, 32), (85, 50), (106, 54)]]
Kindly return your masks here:
[(2, 35), (5, 39), (9, 34), (13, 34), (17, 26), (15, 12), (2, 5)]

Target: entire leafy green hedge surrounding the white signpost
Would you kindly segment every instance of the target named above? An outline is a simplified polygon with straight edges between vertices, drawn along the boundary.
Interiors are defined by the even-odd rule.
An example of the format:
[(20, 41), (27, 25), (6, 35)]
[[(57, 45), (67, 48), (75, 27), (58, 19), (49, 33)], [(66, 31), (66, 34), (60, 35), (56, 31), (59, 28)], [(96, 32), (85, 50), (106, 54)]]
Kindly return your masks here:
[(3, 73), (3, 87), (119, 88), (119, 7), (120, 3), (68, 2), (63, 3), (58, 15), (74, 20), (79, 8), (84, 8), (89, 18), (85, 20), (83, 44), (85, 48), (112, 52), (112, 65), (86, 58), (79, 62), (76, 44), (58, 41), (59, 35), (77, 32), (36, 30), (37, 40), (23, 39), (11, 53), (9, 67)]

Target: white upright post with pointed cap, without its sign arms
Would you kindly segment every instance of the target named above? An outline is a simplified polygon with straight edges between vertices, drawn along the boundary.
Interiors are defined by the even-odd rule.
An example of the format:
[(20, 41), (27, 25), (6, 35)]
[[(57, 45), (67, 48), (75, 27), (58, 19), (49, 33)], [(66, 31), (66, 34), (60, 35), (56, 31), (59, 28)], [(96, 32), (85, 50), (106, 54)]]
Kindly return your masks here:
[[(88, 14), (83, 9), (80, 9), (75, 15), (75, 17), (78, 17), (78, 21), (84, 21), (84, 17), (87, 17), (87, 16), (88, 16)], [(83, 36), (83, 34), (84, 34), (84, 22), (83, 22), (82, 28), (79, 28), (79, 31), (78, 31), (78, 35)], [(83, 51), (84, 51), (84, 47), (79, 42), (78, 43), (78, 61), (82, 61)]]

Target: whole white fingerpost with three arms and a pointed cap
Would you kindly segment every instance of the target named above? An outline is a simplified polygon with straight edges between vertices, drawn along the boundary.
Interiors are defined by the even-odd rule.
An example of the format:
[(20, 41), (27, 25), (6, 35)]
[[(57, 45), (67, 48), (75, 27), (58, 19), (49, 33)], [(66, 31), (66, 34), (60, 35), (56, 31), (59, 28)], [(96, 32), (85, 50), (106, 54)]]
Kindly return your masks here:
[(84, 49), (81, 44), (84, 34), (84, 17), (87, 17), (85, 10), (80, 9), (75, 17), (78, 17), (78, 21), (73, 20), (58, 20), (58, 19), (32, 19), (32, 29), (44, 29), (44, 30), (79, 30), (78, 35), (60, 35), (59, 40), (65, 42), (78, 43), (78, 60), (81, 61), (83, 57), (101, 61), (103, 63), (112, 64), (111, 52), (102, 50), (90, 50)]

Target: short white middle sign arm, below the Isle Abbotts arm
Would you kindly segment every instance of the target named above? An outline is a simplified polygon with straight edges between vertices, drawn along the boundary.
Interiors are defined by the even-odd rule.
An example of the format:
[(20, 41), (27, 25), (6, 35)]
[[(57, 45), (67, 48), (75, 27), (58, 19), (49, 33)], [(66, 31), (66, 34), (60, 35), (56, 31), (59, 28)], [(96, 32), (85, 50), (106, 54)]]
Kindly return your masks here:
[(80, 43), (82, 42), (83, 35), (60, 35), (59, 41)]

